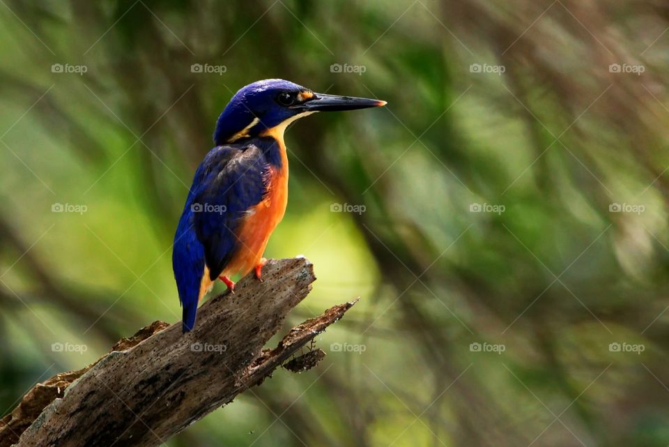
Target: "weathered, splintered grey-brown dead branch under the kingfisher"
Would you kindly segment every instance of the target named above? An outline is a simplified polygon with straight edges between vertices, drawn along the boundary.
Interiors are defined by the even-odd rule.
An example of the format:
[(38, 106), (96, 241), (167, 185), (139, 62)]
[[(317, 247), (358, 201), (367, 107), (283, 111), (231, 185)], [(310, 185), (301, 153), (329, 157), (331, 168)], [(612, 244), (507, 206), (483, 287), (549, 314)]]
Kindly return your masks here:
[[(162, 444), (249, 386), (261, 384), (355, 303), (326, 310), (291, 329), (275, 349), (263, 350), (315, 279), (307, 259), (272, 260), (263, 268), (263, 282), (249, 275), (235, 294), (204, 303), (191, 333), (183, 335), (180, 322), (147, 326), (93, 365), (59, 374), (60, 381), (49, 379), (45, 384), (51, 391), (38, 401), (26, 398), (39, 394), (36, 390), (45, 384), (33, 388), (0, 423), (0, 446), (3, 440), (15, 441), (16, 430), (24, 429), (16, 444), (20, 447)], [(289, 369), (311, 368), (323, 355), (310, 351)], [(26, 421), (40, 406), (45, 407), (39, 416)]]

